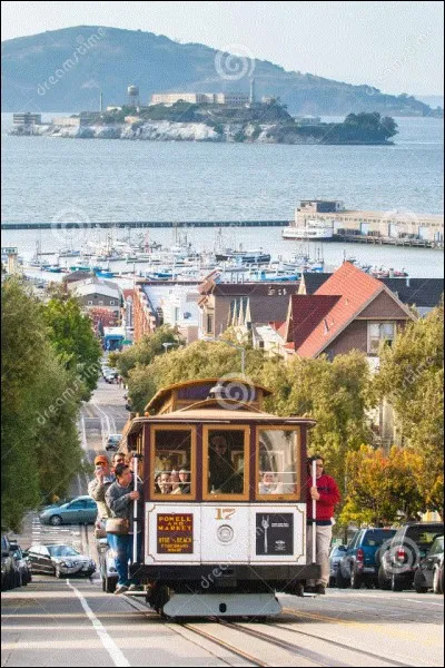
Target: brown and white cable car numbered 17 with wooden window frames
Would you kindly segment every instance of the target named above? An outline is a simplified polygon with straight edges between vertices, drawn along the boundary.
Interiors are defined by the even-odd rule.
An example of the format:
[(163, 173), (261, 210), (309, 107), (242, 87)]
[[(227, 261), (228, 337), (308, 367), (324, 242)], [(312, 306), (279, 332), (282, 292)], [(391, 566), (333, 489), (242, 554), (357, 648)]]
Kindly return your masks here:
[(131, 572), (167, 617), (278, 615), (306, 563), (306, 443), (315, 421), (265, 412), (245, 380), (165, 387), (132, 416), (120, 450), (140, 458), (144, 543)]

